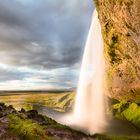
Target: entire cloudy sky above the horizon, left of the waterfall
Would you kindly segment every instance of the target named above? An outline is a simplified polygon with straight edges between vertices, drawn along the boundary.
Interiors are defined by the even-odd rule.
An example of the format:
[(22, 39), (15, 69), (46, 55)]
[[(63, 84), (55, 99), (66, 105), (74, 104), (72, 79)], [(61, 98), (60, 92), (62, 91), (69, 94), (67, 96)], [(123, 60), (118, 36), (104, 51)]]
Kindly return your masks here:
[(77, 87), (92, 0), (0, 1), (0, 90)]

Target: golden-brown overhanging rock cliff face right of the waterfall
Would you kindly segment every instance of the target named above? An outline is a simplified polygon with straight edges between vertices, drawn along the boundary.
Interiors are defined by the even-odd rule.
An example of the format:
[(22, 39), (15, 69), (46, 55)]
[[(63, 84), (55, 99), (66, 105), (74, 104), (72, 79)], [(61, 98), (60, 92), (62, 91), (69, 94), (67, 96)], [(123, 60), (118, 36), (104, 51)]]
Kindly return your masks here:
[(105, 43), (109, 95), (140, 99), (140, 1), (94, 1)]

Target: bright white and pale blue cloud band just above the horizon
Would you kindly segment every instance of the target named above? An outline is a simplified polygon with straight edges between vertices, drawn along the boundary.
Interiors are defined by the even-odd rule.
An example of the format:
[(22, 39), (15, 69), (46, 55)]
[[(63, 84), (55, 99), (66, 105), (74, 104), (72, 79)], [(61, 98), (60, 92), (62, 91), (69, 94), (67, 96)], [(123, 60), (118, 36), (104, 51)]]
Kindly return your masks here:
[(1, 64), (0, 69), (0, 90), (71, 89), (76, 88), (79, 75), (75, 67), (47, 71)]

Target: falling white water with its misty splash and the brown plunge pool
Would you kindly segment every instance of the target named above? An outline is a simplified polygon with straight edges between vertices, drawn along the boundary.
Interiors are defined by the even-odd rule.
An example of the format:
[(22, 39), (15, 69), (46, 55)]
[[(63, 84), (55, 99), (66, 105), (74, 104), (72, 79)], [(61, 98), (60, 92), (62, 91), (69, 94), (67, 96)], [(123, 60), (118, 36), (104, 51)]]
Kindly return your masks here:
[(103, 40), (98, 14), (95, 10), (85, 46), (74, 112), (64, 116), (58, 114), (57, 117), (54, 113), (53, 118), (60, 123), (77, 127), (90, 134), (107, 132), (115, 135), (139, 135), (139, 131), (125, 121), (118, 121), (110, 117), (106, 119), (104, 72)]

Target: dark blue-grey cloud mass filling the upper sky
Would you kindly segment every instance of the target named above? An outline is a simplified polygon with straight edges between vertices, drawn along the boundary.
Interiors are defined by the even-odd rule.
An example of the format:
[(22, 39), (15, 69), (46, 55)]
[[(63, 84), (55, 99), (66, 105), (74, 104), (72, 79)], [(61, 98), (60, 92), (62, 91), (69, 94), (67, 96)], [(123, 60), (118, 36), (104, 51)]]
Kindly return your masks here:
[(89, 6), (79, 0), (2, 1), (0, 50), (9, 57), (5, 63), (52, 68), (78, 62), (90, 22)]

